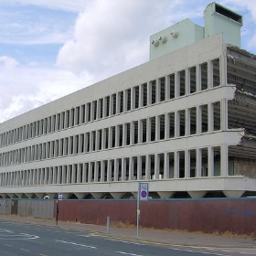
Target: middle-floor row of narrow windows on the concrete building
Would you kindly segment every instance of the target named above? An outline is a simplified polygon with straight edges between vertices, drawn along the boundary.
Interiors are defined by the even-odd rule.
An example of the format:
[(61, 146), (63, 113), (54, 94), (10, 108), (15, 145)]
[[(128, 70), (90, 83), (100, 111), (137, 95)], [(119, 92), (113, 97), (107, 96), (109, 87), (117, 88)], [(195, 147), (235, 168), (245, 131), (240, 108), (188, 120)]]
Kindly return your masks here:
[[(220, 129), (220, 102), (187, 110), (168, 112), (146, 119), (122, 123), (101, 130), (80, 133), (59, 140), (35, 144), (0, 154), (0, 165), (13, 165), (65, 155), (143, 144)], [(212, 120), (212, 127), (208, 121)], [(199, 125), (198, 125), (199, 123)]]

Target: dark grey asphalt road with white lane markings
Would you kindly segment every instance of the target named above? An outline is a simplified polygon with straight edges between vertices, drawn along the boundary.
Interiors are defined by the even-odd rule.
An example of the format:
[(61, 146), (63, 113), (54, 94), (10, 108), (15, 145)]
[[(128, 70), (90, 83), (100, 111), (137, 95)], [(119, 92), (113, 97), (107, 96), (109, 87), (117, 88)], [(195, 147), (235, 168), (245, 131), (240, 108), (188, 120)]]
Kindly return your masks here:
[(10, 255), (236, 256), (242, 254), (218, 250), (208, 251), (203, 248), (199, 250), (198, 248), (170, 247), (145, 241), (112, 238), (88, 231), (0, 220), (0, 256)]

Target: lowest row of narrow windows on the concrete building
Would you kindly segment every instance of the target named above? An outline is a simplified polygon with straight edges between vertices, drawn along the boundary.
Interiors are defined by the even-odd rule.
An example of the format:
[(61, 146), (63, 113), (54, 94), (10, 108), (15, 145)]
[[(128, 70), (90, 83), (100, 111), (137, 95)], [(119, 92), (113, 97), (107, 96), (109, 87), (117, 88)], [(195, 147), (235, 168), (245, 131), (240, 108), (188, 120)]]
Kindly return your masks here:
[(220, 146), (0, 174), (1, 186), (220, 176)]

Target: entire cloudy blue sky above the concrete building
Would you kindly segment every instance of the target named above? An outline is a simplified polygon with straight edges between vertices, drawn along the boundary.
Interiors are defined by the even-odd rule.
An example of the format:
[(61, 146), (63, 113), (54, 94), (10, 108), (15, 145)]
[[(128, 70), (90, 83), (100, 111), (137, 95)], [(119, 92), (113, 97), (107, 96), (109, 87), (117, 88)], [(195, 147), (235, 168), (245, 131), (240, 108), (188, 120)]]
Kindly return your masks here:
[[(149, 37), (208, 0), (1, 0), (0, 122), (148, 60)], [(220, 0), (243, 16), (256, 54), (256, 1)]]

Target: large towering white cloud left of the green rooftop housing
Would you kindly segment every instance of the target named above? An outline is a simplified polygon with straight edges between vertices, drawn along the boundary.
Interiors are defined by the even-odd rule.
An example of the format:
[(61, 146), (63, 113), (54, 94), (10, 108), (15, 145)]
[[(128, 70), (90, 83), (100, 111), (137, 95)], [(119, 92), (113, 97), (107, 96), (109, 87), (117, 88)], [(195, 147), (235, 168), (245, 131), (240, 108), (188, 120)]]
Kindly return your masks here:
[(88, 70), (108, 76), (143, 63), (148, 60), (149, 36), (169, 24), (165, 14), (179, 2), (93, 1), (78, 17), (74, 36), (60, 49), (57, 65), (75, 73)]

